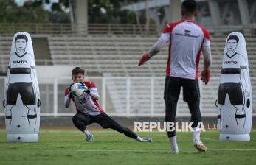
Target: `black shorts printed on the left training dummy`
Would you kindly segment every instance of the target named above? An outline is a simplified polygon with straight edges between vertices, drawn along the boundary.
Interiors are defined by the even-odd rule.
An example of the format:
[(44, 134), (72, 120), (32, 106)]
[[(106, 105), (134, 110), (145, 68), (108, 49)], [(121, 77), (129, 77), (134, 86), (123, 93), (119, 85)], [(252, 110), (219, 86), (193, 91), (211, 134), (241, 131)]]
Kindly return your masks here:
[(18, 82), (9, 84), (7, 105), (16, 105), (18, 94), (21, 94), (23, 105), (35, 105), (35, 91), (32, 83)]

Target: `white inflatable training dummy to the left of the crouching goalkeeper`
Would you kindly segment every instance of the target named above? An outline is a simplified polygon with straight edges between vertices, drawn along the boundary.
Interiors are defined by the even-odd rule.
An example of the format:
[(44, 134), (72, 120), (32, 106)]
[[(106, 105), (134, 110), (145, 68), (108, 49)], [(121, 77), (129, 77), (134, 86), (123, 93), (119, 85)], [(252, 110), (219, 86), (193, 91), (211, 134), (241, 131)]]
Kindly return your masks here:
[(38, 141), (41, 102), (32, 40), (27, 32), (13, 37), (4, 102), (7, 141)]

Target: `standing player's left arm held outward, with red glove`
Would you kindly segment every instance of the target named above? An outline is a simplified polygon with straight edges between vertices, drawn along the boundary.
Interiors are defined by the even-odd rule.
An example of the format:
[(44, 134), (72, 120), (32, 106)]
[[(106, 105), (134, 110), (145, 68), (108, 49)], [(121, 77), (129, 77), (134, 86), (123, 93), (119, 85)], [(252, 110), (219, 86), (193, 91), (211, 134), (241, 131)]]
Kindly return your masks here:
[(147, 60), (156, 55), (160, 50), (169, 42), (169, 35), (167, 33), (162, 33), (158, 41), (148, 50), (147, 53), (142, 55), (142, 58), (139, 60), (139, 66), (143, 65)]

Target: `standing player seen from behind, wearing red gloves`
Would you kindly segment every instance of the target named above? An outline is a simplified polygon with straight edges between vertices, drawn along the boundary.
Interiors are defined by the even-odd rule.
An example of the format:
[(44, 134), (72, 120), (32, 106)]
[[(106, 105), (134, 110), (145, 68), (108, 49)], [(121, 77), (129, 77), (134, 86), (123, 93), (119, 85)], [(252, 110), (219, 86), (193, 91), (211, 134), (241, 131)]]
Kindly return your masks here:
[[(188, 103), (191, 113), (193, 144), (200, 152), (207, 147), (200, 140), (201, 122), (200, 91), (198, 86), (198, 64), (201, 50), (204, 54), (204, 71), (201, 80), (207, 84), (210, 80), (210, 34), (207, 29), (195, 22), (197, 4), (194, 0), (186, 0), (181, 4), (182, 20), (167, 24), (159, 38), (148, 53), (139, 60), (139, 66), (156, 55), (162, 47), (169, 43), (166, 79), (165, 79), (165, 121), (175, 122), (177, 102), (181, 87), (183, 88), (184, 101)], [(170, 152), (179, 153), (176, 141), (176, 132), (167, 131), (170, 141)]]

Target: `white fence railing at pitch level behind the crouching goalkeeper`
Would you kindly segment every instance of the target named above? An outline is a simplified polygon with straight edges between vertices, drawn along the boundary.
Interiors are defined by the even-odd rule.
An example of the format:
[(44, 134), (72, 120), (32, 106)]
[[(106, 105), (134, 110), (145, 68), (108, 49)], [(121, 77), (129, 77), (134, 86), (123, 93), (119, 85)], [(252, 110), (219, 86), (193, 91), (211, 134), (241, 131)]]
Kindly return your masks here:
[[(0, 77), (1, 88), (4, 89), (6, 77)], [(87, 77), (86, 80), (95, 82), (100, 94), (100, 105), (113, 116), (165, 116), (163, 100), (165, 77)], [(75, 106), (64, 108), (64, 90), (70, 84), (70, 77), (39, 78), (41, 93), (41, 116), (72, 116)], [(256, 77), (252, 77), (252, 86)], [(216, 116), (215, 100), (218, 97), (219, 78), (212, 77), (208, 85), (201, 88), (202, 116)], [(252, 91), (256, 99), (256, 91)], [(4, 90), (0, 92), (4, 99)], [(2, 101), (1, 101), (2, 102)], [(253, 108), (256, 103), (253, 102)], [(1, 105), (0, 116), (4, 116)], [(187, 103), (183, 102), (181, 90), (177, 116), (190, 116)], [(256, 116), (256, 110), (253, 110)]]

